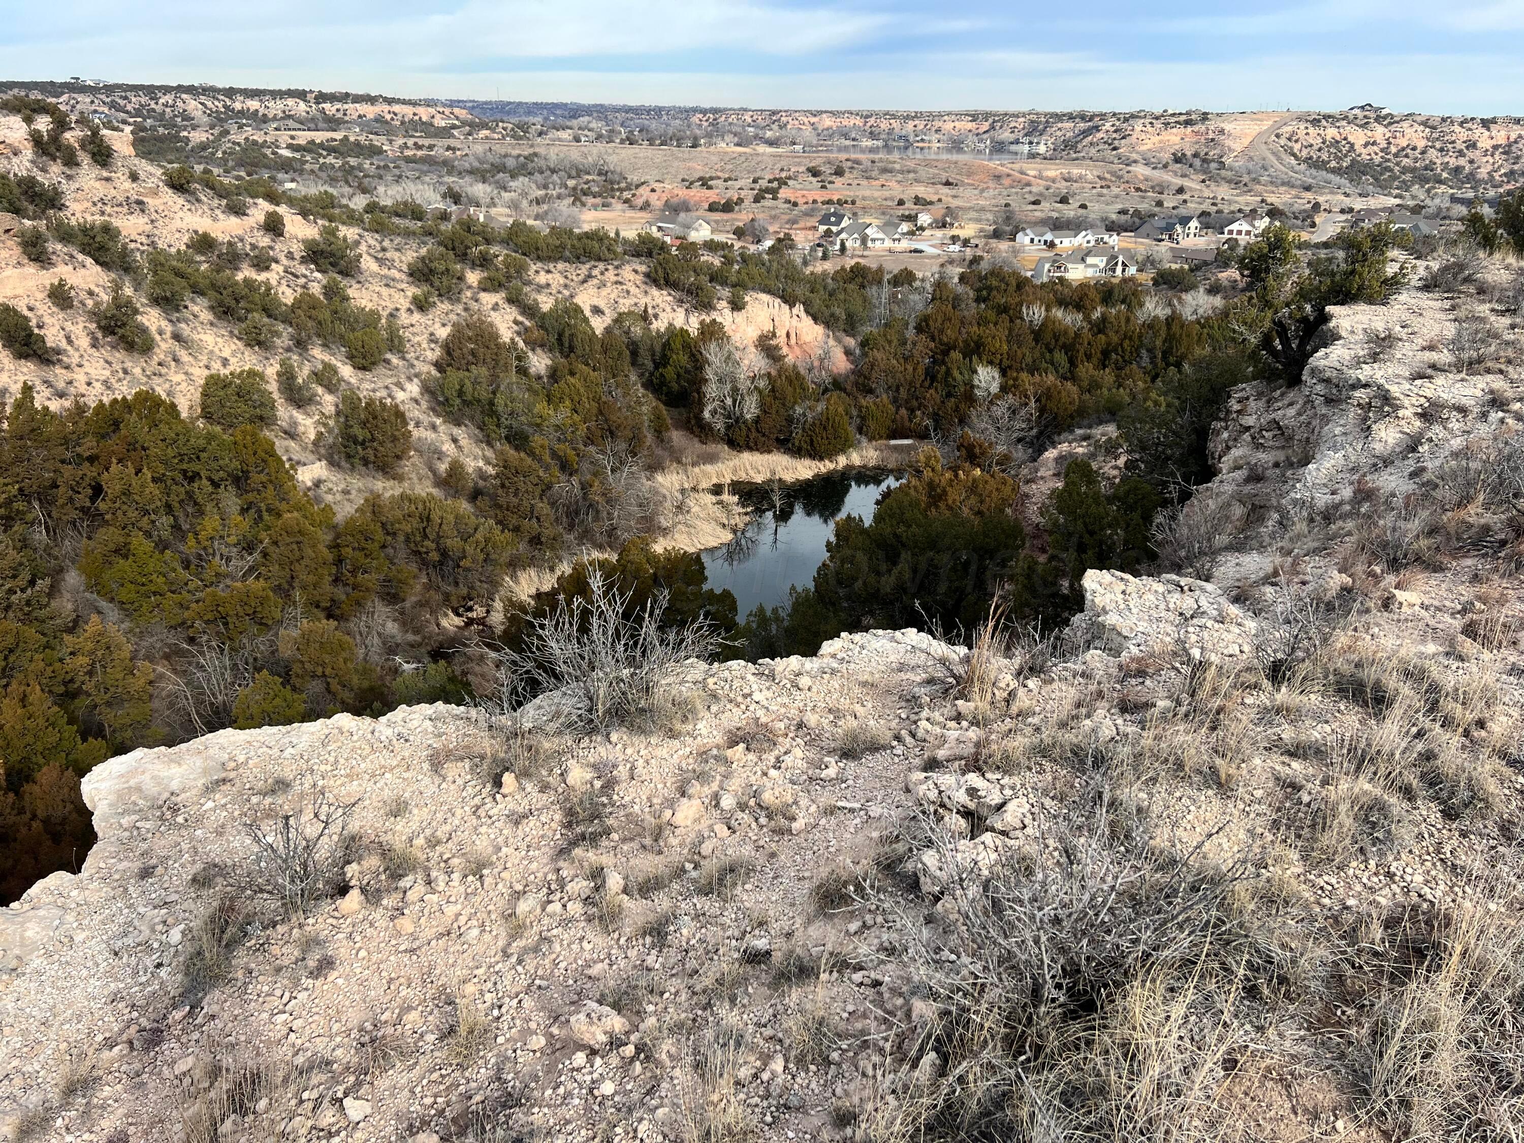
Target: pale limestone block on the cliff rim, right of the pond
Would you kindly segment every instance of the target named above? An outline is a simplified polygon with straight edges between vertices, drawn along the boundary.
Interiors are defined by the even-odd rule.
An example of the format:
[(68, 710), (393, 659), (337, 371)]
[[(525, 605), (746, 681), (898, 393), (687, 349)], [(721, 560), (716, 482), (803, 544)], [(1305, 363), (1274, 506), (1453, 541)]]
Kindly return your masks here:
[(1085, 610), (1068, 628), (1081, 646), (1123, 658), (1184, 649), (1192, 660), (1209, 661), (1254, 652), (1254, 619), (1199, 579), (1090, 570), (1084, 590)]

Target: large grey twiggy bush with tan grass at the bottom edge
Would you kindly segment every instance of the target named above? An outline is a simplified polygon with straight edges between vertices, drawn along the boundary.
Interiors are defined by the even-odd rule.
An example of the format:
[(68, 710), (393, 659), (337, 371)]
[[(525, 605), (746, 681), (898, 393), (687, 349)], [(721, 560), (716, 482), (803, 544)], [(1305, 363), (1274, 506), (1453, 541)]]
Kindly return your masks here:
[[(930, 1027), (870, 1111), (872, 1138), (1219, 1138), (1245, 867), (1119, 840), (1108, 799), (1044, 826), (988, 881), (954, 882), (954, 924), (911, 946)], [(1126, 834), (1126, 831), (1120, 831)], [(951, 858), (949, 858), (951, 861)]]

